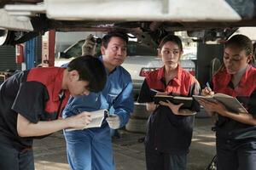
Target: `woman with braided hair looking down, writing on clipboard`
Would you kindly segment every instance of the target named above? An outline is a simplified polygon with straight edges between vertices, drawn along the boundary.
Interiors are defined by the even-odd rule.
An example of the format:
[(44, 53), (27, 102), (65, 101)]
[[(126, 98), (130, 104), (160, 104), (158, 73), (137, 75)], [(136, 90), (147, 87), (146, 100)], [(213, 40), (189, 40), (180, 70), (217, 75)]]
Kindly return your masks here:
[(253, 170), (256, 167), (256, 69), (252, 65), (253, 44), (248, 37), (236, 35), (224, 45), (224, 65), (201, 94), (222, 93), (236, 97), (248, 113), (235, 113), (217, 101), (201, 99), (200, 103), (207, 112), (218, 115), (218, 170)]

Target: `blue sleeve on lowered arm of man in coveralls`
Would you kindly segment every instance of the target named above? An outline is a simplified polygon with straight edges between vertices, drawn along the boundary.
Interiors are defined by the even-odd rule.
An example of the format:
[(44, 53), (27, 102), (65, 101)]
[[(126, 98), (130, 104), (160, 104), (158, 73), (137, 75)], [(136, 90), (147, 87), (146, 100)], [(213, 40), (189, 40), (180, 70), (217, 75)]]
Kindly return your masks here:
[(133, 88), (130, 81), (113, 102), (114, 114), (120, 116), (120, 127), (124, 127), (133, 112)]

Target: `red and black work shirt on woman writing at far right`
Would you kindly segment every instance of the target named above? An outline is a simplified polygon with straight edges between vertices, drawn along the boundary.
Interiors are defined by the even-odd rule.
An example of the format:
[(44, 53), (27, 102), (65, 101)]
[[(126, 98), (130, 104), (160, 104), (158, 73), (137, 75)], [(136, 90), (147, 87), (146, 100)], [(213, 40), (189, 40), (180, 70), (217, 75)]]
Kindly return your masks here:
[[(236, 86), (231, 82), (231, 75), (226, 69), (218, 71), (212, 77), (212, 89), (215, 93), (229, 94), (236, 97), (247, 108), (249, 114), (256, 118), (256, 69), (252, 65), (247, 65), (246, 72), (241, 77), (241, 81)], [(225, 116), (218, 115), (217, 135), (223, 138), (247, 138), (256, 137), (256, 127), (241, 122), (236, 122)]]

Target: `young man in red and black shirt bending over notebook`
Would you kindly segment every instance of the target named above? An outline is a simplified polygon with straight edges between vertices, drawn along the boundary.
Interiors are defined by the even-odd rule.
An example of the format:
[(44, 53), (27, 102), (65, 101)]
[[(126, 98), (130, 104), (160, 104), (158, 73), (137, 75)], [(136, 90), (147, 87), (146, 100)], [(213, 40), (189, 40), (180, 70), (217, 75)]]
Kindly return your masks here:
[(20, 71), (0, 86), (0, 169), (34, 169), (32, 141), (64, 128), (84, 127), (90, 114), (58, 119), (69, 95), (99, 92), (106, 72), (99, 59), (83, 56), (65, 68)]

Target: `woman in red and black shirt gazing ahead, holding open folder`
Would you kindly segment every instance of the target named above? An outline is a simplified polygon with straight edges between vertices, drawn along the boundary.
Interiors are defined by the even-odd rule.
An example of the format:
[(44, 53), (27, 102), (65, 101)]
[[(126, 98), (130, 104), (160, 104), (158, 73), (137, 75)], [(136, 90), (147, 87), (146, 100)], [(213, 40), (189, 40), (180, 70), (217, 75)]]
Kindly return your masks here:
[(193, 115), (200, 107), (195, 101), (190, 108), (185, 109), (183, 104), (174, 105), (169, 101), (155, 105), (153, 91), (161, 92), (157, 94), (191, 97), (199, 93), (200, 85), (195, 77), (178, 64), (183, 54), (179, 37), (164, 37), (158, 53), (164, 66), (148, 74), (138, 99), (140, 103), (147, 103), (148, 111), (153, 111), (148, 119), (145, 138), (147, 169), (185, 170), (193, 132)]

